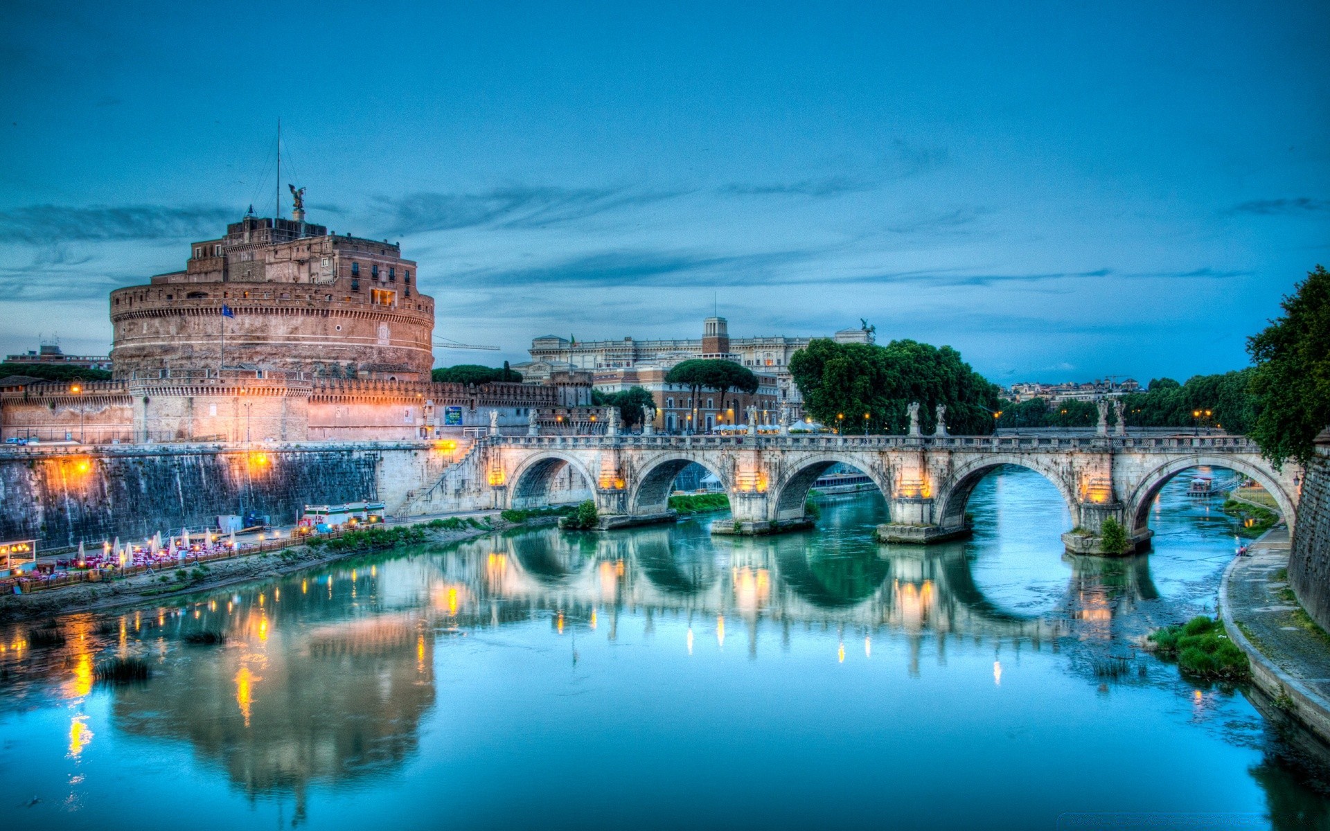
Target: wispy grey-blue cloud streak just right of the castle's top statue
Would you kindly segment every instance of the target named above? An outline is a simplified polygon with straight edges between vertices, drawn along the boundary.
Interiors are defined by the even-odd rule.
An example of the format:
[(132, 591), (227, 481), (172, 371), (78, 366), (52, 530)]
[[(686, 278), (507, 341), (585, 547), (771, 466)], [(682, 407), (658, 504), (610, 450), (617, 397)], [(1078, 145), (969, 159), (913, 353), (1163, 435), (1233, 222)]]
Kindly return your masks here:
[(509, 185), (484, 193), (410, 193), (403, 197), (379, 197), (375, 202), (379, 211), (388, 215), (388, 233), (407, 235), (480, 225), (544, 227), (672, 199), (684, 193), (686, 191)]

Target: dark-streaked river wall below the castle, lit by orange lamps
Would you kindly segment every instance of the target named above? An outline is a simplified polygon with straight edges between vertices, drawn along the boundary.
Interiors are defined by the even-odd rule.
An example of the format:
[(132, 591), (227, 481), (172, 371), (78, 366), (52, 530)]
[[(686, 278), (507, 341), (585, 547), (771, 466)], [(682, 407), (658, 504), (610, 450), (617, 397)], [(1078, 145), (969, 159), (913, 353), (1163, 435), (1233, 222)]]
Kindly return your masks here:
[(356, 500), (395, 513), (459, 453), (430, 441), (5, 448), (0, 541), (36, 538), (39, 552), (100, 546), (215, 528), (219, 515), (291, 524), (306, 504)]

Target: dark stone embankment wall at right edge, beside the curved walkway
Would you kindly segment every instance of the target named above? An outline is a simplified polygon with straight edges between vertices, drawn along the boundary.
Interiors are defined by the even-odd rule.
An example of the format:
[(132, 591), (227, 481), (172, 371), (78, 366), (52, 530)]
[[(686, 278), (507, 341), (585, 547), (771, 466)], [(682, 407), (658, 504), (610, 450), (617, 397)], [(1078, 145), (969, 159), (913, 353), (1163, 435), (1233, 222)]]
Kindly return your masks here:
[(1330, 630), (1330, 431), (1317, 436), (1317, 456), (1302, 479), (1289, 586), (1311, 620)]

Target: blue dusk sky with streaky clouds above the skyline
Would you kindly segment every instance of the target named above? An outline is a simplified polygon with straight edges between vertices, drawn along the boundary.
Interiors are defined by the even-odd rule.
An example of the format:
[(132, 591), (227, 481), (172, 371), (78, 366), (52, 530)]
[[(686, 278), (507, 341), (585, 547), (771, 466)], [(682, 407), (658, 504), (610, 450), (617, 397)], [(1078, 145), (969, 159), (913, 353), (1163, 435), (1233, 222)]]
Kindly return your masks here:
[[(253, 203), (399, 241), (439, 366), (533, 336), (950, 344), (1180, 380), (1330, 265), (1327, 3), (5, 3), (0, 351)], [(283, 214), (290, 211), (289, 195)]]

